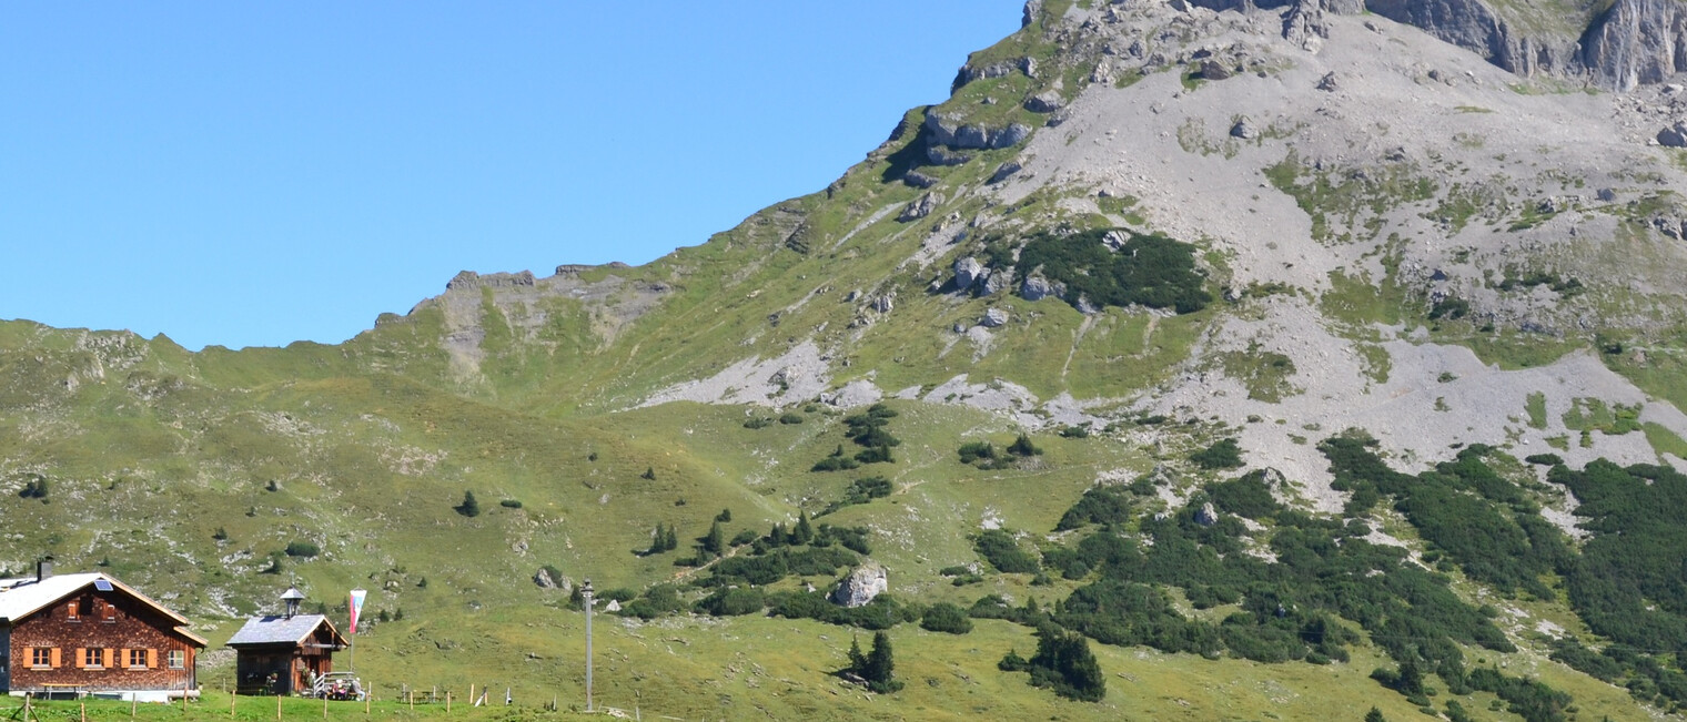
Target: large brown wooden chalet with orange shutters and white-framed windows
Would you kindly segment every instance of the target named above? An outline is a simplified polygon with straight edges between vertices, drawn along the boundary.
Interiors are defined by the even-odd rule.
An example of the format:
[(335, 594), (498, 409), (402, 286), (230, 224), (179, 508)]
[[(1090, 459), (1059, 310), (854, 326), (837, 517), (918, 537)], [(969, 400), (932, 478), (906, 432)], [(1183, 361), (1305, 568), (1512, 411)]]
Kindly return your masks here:
[(20, 697), (199, 697), (206, 641), (187, 619), (105, 574), (0, 579), (0, 692)]

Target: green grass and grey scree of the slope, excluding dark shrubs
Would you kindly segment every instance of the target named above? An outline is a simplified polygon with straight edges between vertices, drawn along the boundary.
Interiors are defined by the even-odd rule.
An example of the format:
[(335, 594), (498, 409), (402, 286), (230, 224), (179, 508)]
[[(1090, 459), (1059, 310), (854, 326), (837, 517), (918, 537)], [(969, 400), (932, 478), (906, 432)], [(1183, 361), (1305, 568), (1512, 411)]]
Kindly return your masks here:
[[(1004, 530), (1059, 558), (1102, 533), (1061, 523), (1097, 484), (1152, 479), (1105, 531), (1149, 538), (1156, 515), (1193, 513), (1213, 484), (1259, 469), (1284, 477), (1274, 501), (1339, 520), (1351, 489), (1331, 484), (1318, 442), (1348, 427), (1410, 474), (1469, 444), (1500, 459), (1552, 449), (1572, 469), (1682, 464), (1687, 309), (1670, 278), (1687, 255), (1667, 231), (1687, 177), (1625, 125), (1667, 101), (1647, 89), (1523, 94), (1474, 56), (1380, 19), (1331, 19), (1311, 54), (1282, 42), (1267, 12), (1095, 5), (1043, 3), (1029, 27), (968, 59), (1005, 74), (978, 73), (946, 103), (909, 111), (823, 192), (644, 267), (459, 277), (339, 346), (187, 353), (165, 337), (0, 322), (0, 509), (13, 521), (0, 565), (19, 572), (49, 552), (61, 568), (105, 563), (202, 619), (214, 641), (287, 584), (339, 616), (344, 589), (363, 585), (364, 619), (403, 611), (359, 638), (359, 671), (383, 695), (476, 682), (536, 705), (580, 697), (582, 619), (535, 572), (606, 592), (676, 582), (693, 602), (709, 590), (690, 584), (712, 572), (673, 562), (720, 509), (725, 538), (828, 509), (815, 521), (867, 528), (903, 606), (967, 609), (994, 594), (1053, 609), (1112, 572), (997, 574), (975, 540)], [(1247, 73), (1184, 81), (1213, 57)], [(1444, 81), (1453, 69), (1464, 79)], [(1339, 89), (1316, 89), (1326, 73)], [(1049, 91), (1066, 108), (1022, 106)], [(928, 113), (1038, 130), (935, 165)], [(1240, 116), (1265, 132), (1230, 137)], [(1009, 160), (1022, 169), (995, 179)], [(909, 170), (941, 201), (903, 221), (928, 192), (904, 182)], [(1007, 273), (1034, 238), (1112, 228), (1191, 243), (1215, 300), (1085, 314), (1076, 299), (1017, 295), (1032, 268), (994, 294), (953, 287), (960, 258), (995, 256), (992, 273)], [(1431, 319), (1449, 299), (1464, 302), (1459, 314)], [(992, 309), (1005, 324), (982, 324)], [(896, 396), (894, 462), (810, 471), (840, 445), (857, 450), (845, 418), (881, 396)], [(784, 415), (801, 423), (746, 425)], [(1080, 425), (1090, 432), (1058, 434)], [(1005, 452), (1024, 432), (1041, 455)], [(1242, 469), (1189, 461), (1226, 439)], [(1002, 461), (960, 462), (968, 442)], [(1525, 489), (1528, 513), (1586, 535), (1564, 484), (1496, 464), (1512, 464), (1506, 482)], [(850, 489), (872, 476), (889, 496), (842, 503), (862, 501)], [(44, 496), (20, 496), (42, 482)], [(452, 509), (466, 491), (481, 515)], [(1552, 661), (1554, 638), (1609, 643), (1555, 572), (1533, 587), (1552, 594), (1501, 592), (1439, 565), (1442, 526), (1419, 526), (1409, 499), (1400, 509), (1365, 511), (1368, 542), (1446, 567), (1463, 602), (1500, 612), (1515, 651), (1464, 646), (1469, 666), (1537, 676), (1574, 697), (1577, 719), (1643, 719), (1679, 702), (1653, 688), (1648, 709), (1643, 683), (1630, 693)], [(658, 525), (678, 550), (643, 555)], [(1255, 525), (1242, 531), (1252, 552), (1213, 543), (1267, 553), (1287, 526)], [(288, 545), (321, 553), (288, 557)], [(725, 553), (754, 557), (749, 545)], [(1242, 611), (1208, 604), (1211, 584), (1151, 580), (1188, 619), (1216, 626)], [(828, 590), (835, 577), (768, 590), (806, 584)], [(1358, 719), (1377, 705), (1410, 719), (1414, 700), (1370, 680), (1393, 668), (1399, 644), (1358, 619), (1338, 624), (1358, 641), (1329, 665), (1091, 644), (1108, 693), (1081, 703), (997, 670), (1009, 649), (1038, 646), (1031, 626), (1007, 621), (967, 634), (896, 626), (906, 685), (877, 697), (832, 676), (859, 634), (845, 626), (604, 619), (597, 690), (680, 717)], [(208, 665), (209, 685), (229, 680), (231, 665)], [(1645, 676), (1636, 670), (1613, 680)], [(1491, 692), (1431, 685), (1437, 710), (1456, 698), (1479, 719), (1518, 719)]]

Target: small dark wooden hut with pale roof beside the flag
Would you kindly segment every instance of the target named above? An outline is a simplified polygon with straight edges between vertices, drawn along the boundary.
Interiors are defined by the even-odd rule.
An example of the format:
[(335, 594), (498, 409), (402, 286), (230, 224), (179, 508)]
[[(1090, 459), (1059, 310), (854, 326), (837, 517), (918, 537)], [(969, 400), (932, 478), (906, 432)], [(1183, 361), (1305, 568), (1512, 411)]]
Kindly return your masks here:
[(297, 589), (282, 594), (285, 612), (246, 619), (228, 646), (234, 648), (234, 692), (294, 695), (310, 692), (310, 680), (334, 671), (334, 653), (348, 646), (322, 614), (299, 614)]

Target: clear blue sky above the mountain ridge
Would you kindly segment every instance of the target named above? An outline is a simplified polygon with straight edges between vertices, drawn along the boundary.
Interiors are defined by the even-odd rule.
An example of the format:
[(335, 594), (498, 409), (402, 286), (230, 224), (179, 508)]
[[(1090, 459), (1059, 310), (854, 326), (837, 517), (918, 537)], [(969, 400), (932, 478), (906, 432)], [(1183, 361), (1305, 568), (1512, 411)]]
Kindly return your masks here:
[(459, 270), (644, 263), (825, 187), (1021, 0), (0, 12), (0, 319), (339, 342)]

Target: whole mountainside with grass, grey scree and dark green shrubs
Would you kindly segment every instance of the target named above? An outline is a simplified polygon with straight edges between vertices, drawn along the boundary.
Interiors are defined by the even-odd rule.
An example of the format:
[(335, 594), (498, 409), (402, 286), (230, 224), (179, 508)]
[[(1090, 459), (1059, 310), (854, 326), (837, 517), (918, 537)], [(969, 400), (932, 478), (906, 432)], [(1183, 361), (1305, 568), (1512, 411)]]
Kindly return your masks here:
[(369, 587), (381, 693), (577, 700), (589, 577), (599, 700), (676, 717), (1677, 714), (1680, 13), (1032, 2), (644, 267), (339, 346), (5, 322), (0, 565), (219, 629)]

